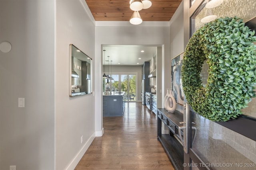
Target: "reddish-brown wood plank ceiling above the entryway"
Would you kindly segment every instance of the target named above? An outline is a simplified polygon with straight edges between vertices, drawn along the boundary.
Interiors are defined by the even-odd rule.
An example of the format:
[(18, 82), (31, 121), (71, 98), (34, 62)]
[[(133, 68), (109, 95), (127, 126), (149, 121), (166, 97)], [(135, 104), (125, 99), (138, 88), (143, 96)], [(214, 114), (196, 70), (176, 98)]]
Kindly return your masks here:
[[(95, 21), (129, 21), (130, 0), (85, 0)], [(182, 0), (151, 0), (152, 6), (139, 11), (143, 21), (170, 21)]]

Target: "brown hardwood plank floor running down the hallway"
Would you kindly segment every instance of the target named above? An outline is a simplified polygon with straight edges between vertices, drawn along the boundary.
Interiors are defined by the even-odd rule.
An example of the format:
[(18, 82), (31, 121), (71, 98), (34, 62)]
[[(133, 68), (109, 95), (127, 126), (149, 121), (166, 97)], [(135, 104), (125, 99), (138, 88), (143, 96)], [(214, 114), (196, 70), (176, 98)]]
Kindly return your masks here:
[(146, 106), (126, 103), (123, 117), (104, 117), (103, 127), (75, 170), (174, 170), (156, 139), (156, 115)]

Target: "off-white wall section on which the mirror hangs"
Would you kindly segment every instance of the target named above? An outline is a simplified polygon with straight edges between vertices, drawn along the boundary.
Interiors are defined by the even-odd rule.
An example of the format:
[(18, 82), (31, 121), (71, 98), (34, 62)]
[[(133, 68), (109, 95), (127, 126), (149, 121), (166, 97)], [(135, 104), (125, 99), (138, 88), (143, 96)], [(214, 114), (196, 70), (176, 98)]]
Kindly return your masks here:
[[(56, 2), (56, 169), (74, 169), (94, 139), (94, 96), (70, 98), (69, 44), (92, 58), (94, 84), (94, 24), (84, 10), (84, 0)], [(93, 86), (94, 91), (94, 86)], [(98, 106), (97, 106), (98, 107)], [(83, 143), (81, 143), (83, 136)]]

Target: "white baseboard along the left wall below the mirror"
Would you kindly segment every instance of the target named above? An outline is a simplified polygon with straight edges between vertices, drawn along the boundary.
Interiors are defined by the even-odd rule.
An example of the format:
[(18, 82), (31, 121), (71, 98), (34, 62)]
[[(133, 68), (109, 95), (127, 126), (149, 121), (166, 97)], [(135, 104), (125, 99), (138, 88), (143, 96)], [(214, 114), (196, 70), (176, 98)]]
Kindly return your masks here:
[(95, 132), (92, 134), (92, 136), (86, 141), (86, 143), (84, 144), (84, 146), (82, 147), (82, 149), (78, 152), (78, 154), (74, 157), (74, 159), (71, 161), (71, 163), (68, 165), (68, 167), (66, 168), (66, 170), (74, 170), (76, 168), (76, 165), (78, 164), (78, 162), (81, 160), (81, 158), (83, 157), (84, 153), (86, 152), (86, 150), (90, 147), (92, 141), (95, 138)]

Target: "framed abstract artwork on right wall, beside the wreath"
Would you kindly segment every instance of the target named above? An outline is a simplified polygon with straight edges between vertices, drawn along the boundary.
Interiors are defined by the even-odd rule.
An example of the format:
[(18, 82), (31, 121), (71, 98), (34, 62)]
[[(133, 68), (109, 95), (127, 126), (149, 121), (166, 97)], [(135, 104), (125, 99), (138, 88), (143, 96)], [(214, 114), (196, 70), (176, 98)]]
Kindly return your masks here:
[(174, 57), (171, 61), (171, 84), (173, 96), (176, 103), (183, 105), (184, 93), (182, 89), (181, 81), (181, 66), (184, 53), (181, 53)]

